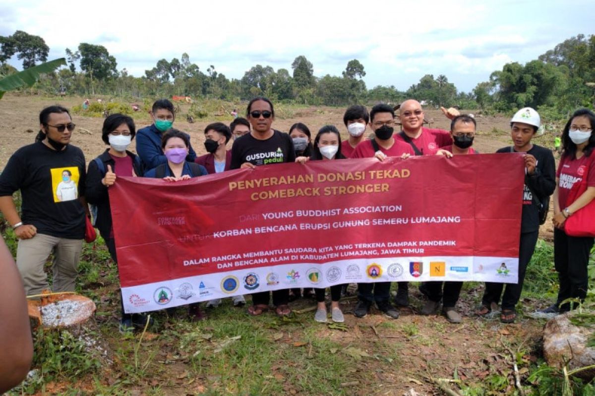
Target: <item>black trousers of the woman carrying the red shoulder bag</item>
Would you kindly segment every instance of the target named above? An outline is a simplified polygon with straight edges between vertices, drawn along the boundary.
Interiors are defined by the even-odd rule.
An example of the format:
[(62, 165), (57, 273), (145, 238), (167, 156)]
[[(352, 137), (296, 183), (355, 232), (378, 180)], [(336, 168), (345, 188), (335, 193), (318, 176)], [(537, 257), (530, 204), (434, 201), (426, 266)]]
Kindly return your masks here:
[[(569, 298), (582, 301), (587, 296), (589, 280), (587, 265), (591, 248), (593, 248), (592, 237), (569, 236), (563, 230), (554, 230), (554, 265), (560, 281), (556, 305)], [(569, 303), (560, 307), (560, 311), (569, 311), (569, 309)]]

